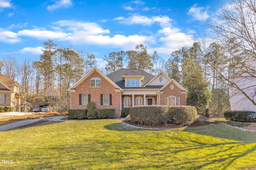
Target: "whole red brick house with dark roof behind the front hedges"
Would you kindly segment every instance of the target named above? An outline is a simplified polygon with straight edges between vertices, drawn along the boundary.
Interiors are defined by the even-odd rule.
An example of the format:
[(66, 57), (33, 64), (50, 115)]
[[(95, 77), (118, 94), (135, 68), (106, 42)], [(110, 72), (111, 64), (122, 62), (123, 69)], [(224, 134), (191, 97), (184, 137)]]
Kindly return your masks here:
[(115, 117), (121, 116), (124, 107), (186, 105), (188, 93), (163, 72), (153, 76), (132, 68), (120, 69), (108, 75), (93, 68), (68, 92), (70, 109), (86, 109), (88, 102), (95, 102), (97, 109), (115, 109)]

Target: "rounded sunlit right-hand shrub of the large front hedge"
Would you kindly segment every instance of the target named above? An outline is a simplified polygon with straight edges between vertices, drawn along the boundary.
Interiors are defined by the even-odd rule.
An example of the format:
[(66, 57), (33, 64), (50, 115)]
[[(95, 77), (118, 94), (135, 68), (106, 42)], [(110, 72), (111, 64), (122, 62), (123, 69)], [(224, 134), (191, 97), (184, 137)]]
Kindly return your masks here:
[(178, 125), (191, 125), (196, 120), (196, 107), (194, 106), (168, 106), (167, 122)]

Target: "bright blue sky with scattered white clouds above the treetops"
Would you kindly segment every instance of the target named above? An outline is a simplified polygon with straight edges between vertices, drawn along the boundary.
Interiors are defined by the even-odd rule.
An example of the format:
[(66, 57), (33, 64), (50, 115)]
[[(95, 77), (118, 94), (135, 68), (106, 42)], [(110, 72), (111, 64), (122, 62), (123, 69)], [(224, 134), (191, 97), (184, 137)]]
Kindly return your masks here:
[(0, 0), (0, 59), (39, 59), (43, 42), (104, 55), (143, 44), (167, 60), (224, 0)]

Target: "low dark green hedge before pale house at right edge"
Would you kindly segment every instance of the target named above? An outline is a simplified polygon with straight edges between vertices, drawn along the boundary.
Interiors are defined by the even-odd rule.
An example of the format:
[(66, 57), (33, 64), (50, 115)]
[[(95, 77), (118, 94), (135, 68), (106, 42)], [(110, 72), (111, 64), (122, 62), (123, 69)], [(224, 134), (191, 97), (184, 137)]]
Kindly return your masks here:
[(256, 112), (255, 111), (225, 111), (224, 117), (231, 121), (240, 122), (255, 122)]

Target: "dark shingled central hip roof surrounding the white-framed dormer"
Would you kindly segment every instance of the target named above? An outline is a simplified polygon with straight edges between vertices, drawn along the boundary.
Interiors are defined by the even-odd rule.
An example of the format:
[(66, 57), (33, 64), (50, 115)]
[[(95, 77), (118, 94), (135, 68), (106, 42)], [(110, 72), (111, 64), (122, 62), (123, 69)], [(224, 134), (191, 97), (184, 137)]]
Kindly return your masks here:
[[(122, 76), (144, 76), (143, 81), (141, 81), (142, 87), (147, 84), (152, 78), (155, 76), (152, 74), (149, 74), (148, 72), (142, 71), (138, 68), (122, 68), (120, 70), (117, 70), (115, 72), (112, 72), (107, 75), (110, 80), (112, 80), (115, 84), (117, 84), (122, 89), (138, 89), (142, 87), (125, 87), (125, 82), (122, 80)], [(149, 88), (149, 87), (145, 87)], [(152, 88), (152, 87), (151, 87)]]

